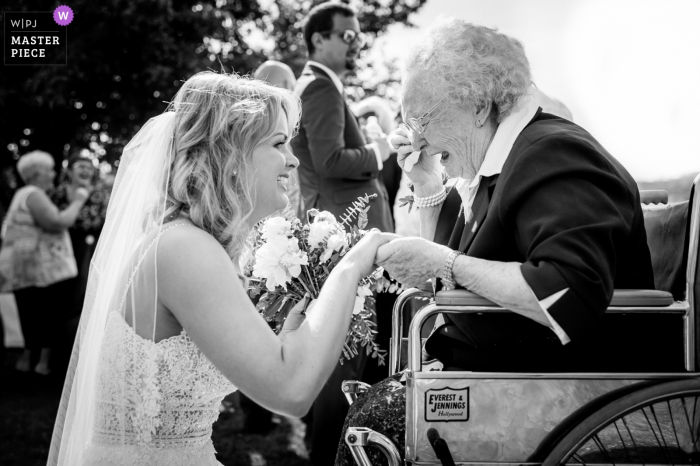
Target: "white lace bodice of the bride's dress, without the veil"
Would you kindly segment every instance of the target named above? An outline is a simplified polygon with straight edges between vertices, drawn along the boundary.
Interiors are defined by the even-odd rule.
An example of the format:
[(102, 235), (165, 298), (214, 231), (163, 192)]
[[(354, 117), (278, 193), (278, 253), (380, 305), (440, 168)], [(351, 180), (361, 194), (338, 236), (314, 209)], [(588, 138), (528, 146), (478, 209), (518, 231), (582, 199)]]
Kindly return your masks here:
[(105, 330), (86, 464), (217, 465), (212, 424), (236, 387), (184, 330), (155, 343), (115, 311)]

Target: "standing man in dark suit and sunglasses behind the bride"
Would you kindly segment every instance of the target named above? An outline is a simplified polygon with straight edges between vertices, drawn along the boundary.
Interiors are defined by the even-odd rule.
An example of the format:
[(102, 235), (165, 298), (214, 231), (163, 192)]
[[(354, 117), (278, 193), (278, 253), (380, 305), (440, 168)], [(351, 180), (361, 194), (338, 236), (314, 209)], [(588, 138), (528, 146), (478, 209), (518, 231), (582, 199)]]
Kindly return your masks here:
[[(367, 228), (391, 232), (391, 208), (380, 176), (391, 149), (385, 138), (366, 139), (345, 101), (341, 81), (355, 68), (363, 44), (360, 24), (347, 5), (323, 3), (309, 12), (304, 38), (309, 61), (295, 88), (302, 117), (291, 143), (300, 162), (300, 218), (303, 221), (311, 208), (339, 217), (358, 197), (375, 194), (369, 203)], [(361, 351), (338, 365), (307, 416), (313, 464), (333, 464), (348, 410), (341, 383), (361, 380), (366, 363)]]

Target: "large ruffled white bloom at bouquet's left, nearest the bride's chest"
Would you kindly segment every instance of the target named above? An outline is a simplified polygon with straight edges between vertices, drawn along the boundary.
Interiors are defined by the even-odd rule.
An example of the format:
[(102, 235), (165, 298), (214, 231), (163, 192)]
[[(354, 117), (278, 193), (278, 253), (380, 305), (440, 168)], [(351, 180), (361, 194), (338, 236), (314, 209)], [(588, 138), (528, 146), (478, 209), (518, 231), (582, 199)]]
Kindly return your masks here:
[(253, 275), (264, 278), (270, 291), (277, 286), (286, 290), (287, 283), (292, 277), (298, 277), (301, 266), (308, 263), (308, 257), (299, 249), (299, 241), (296, 238), (271, 236), (255, 252)]

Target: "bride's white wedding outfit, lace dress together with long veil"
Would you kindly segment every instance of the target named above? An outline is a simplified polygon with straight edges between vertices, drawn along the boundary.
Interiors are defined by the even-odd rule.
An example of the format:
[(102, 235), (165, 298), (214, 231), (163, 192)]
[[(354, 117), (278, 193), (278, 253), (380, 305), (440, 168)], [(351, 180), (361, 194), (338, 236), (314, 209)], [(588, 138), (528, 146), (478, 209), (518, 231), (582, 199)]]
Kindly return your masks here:
[(48, 466), (219, 465), (212, 424), (236, 387), (184, 330), (161, 341), (154, 332), (154, 253), (158, 239), (182, 225), (163, 227), (177, 116), (172, 110), (146, 123), (121, 157), (90, 264)]

